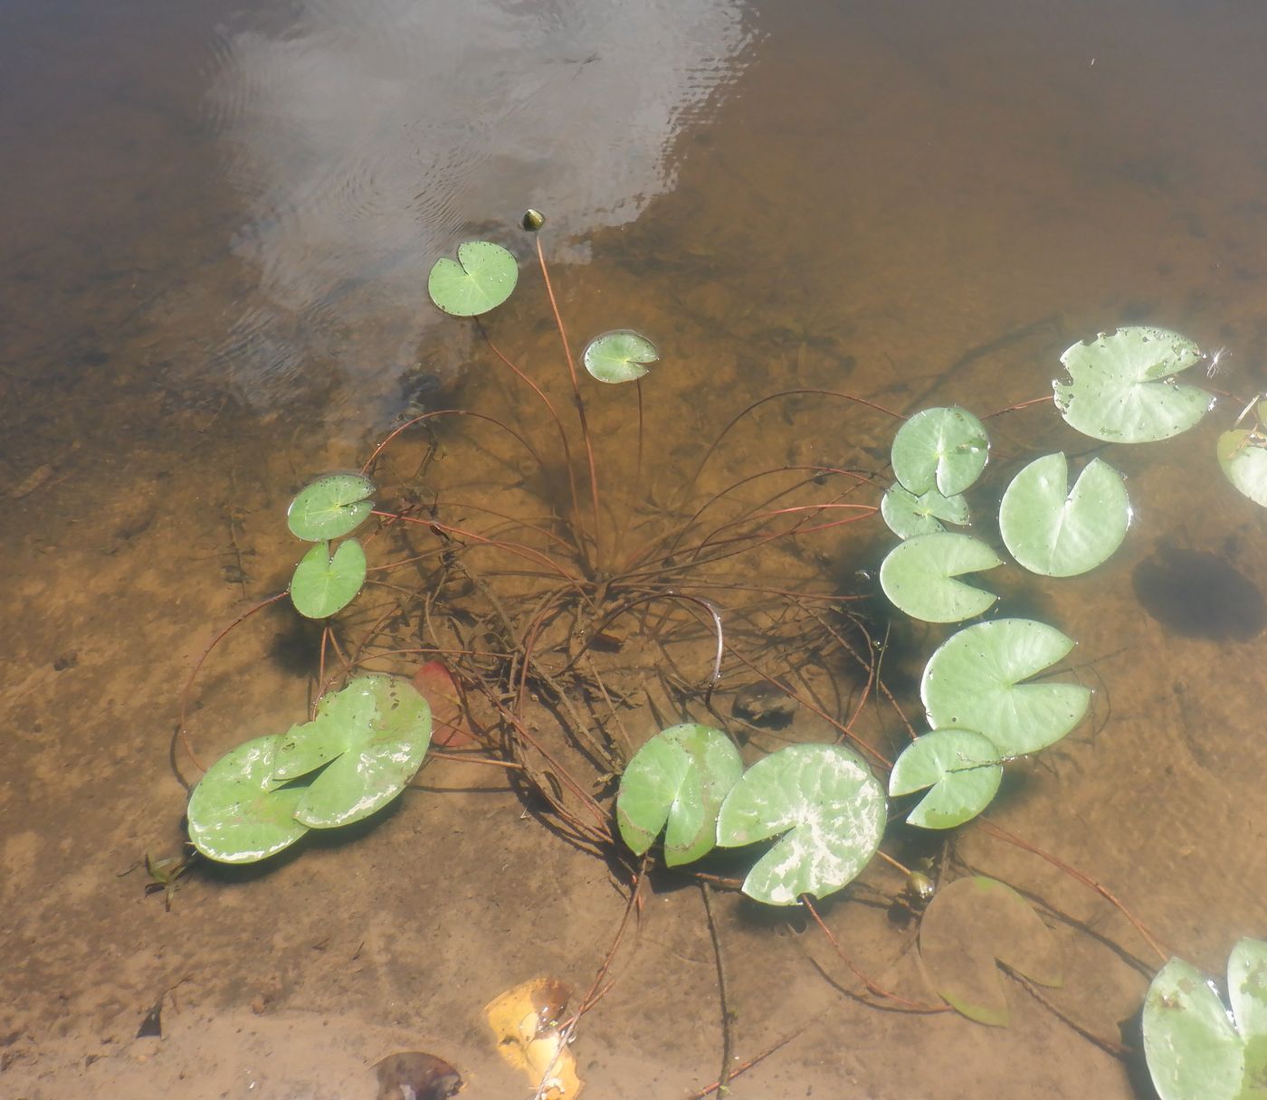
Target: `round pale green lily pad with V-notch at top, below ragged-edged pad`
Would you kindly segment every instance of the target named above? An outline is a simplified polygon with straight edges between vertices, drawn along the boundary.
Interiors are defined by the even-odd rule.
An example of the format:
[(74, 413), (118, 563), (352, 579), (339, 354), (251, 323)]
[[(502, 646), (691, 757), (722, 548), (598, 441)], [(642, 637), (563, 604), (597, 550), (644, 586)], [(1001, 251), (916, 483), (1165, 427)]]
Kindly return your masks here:
[(1107, 561), (1130, 525), (1121, 475), (1092, 458), (1069, 490), (1064, 454), (1045, 454), (1021, 470), (998, 505), (998, 530), (1033, 573), (1072, 577)]

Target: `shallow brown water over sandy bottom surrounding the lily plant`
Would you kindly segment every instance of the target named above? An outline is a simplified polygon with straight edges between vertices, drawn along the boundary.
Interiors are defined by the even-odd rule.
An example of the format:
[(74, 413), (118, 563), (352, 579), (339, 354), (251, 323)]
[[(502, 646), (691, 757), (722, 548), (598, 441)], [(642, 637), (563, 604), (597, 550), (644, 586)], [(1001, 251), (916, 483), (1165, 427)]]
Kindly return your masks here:
[[(369, 1065), (418, 1048), (462, 1070), (464, 1095), (514, 1096), (483, 1006), (540, 973), (584, 987), (602, 959), (622, 911), (607, 866), (473, 767), (432, 775), (487, 790), (411, 792), (346, 843), (199, 873), (170, 913), (143, 872), (119, 877), (180, 844), (180, 685), (285, 585), (294, 491), (418, 403), (535, 424), (470, 327), (427, 305), (436, 254), (478, 233), (525, 257), (490, 335), (565, 400), (514, 228), (547, 211), (574, 341), (632, 327), (660, 346), (658, 492), (765, 392), (984, 414), (1125, 322), (1226, 346), (1210, 385), (1248, 397), (1267, 387), (1264, 44), (1267, 13), (1232, 0), (3, 5), (0, 1092), (369, 1096)], [(590, 400), (611, 470), (628, 395)], [(1263, 514), (1213, 462), (1234, 404), (1112, 451), (1136, 522), (1110, 565), (1002, 581), (1005, 610), (1078, 639), (1097, 699), (992, 811), (1213, 972), (1267, 933), (1263, 641), (1252, 597), (1186, 629), (1164, 609), (1200, 596), (1167, 595), (1164, 568), (1267, 586)], [(883, 419), (788, 410), (736, 433), (708, 484), (883, 465)], [(1047, 409), (992, 430), (1003, 472), (1079, 446)], [(547, 510), (476, 433), (443, 447), (469, 499)], [(849, 530), (803, 561), (874, 567), (884, 533)], [(895, 686), (936, 637), (898, 628)], [(304, 713), (310, 643), (277, 610), (217, 651), (191, 723), (208, 757)], [(1116, 1038), (1147, 976), (1095, 937), (1154, 965), (1130, 925), (998, 842), (969, 834), (960, 854), (1081, 924), (1057, 923), (1053, 1000)], [(858, 984), (820, 937), (731, 896), (717, 913), (736, 1057), (798, 1035), (737, 1096), (1147, 1095), (1017, 986), (1007, 1030), (882, 1013), (840, 991)], [(873, 976), (927, 996), (910, 930), (850, 901), (825, 919)], [(707, 1085), (721, 1027), (698, 891), (651, 895), (623, 966), (575, 1044), (587, 1095)], [(133, 1042), (169, 989), (165, 1037)]]

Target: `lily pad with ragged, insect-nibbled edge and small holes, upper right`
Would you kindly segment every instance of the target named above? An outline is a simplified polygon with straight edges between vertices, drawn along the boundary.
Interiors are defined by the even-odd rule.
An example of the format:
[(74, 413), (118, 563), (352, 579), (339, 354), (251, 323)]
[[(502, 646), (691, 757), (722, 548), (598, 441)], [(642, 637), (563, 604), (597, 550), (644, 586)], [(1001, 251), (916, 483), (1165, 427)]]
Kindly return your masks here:
[(1109, 443), (1153, 443), (1197, 423), (1210, 395), (1172, 375), (1201, 361), (1178, 333), (1147, 325), (1101, 333), (1068, 348), (1068, 382), (1053, 382), (1055, 406), (1071, 428)]

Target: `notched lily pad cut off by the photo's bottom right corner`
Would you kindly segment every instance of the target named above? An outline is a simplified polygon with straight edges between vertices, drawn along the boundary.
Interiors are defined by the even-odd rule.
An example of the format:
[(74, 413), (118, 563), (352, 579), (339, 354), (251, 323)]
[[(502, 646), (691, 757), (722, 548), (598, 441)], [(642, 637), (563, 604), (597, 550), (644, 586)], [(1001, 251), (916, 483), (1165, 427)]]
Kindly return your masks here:
[(1228, 958), (1228, 1001), (1180, 958), (1144, 1000), (1144, 1057), (1161, 1100), (1267, 1096), (1267, 943), (1242, 939)]

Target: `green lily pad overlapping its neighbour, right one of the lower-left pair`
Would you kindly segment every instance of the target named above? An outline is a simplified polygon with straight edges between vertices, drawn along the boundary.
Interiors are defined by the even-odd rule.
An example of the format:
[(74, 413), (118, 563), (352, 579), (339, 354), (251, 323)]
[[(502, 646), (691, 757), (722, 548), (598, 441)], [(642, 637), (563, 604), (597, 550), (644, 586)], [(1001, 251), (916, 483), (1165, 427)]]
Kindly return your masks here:
[(317, 718), (277, 744), (274, 778), (285, 781), (324, 765), (302, 789), (295, 818), (314, 829), (350, 825), (405, 789), (431, 744), (431, 708), (394, 676), (359, 676), (317, 705)]

